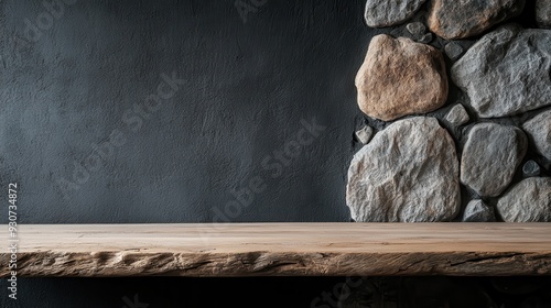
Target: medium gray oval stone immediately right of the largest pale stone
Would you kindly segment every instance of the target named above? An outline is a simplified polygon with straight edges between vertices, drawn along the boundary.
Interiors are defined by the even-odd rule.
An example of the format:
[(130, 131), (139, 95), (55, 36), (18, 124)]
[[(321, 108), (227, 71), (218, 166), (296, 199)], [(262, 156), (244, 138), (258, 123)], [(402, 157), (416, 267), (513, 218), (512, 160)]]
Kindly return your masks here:
[(479, 123), (468, 133), (461, 160), (461, 182), (482, 197), (504, 191), (522, 162), (528, 146), (515, 127)]

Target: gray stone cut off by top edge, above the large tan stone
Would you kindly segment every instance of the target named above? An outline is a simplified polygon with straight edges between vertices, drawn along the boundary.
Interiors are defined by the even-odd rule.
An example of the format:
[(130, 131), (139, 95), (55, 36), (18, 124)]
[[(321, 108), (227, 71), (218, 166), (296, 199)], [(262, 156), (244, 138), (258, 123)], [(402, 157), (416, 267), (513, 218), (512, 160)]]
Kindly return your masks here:
[(372, 28), (400, 24), (409, 20), (426, 0), (367, 0), (364, 18)]

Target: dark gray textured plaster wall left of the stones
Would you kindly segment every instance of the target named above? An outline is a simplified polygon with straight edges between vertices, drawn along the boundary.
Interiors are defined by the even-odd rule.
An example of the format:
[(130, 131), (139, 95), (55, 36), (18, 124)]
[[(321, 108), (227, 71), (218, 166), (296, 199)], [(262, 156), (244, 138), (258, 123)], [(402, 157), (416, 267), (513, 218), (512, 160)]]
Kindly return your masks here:
[(348, 220), (360, 1), (66, 2), (0, 7), (20, 223)]

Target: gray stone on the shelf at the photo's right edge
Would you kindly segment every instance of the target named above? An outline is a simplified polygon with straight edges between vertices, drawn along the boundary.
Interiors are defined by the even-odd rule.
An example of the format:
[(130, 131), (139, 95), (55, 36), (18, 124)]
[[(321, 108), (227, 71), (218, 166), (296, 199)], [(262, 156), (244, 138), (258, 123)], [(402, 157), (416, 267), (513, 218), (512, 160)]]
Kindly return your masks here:
[(551, 221), (551, 177), (529, 177), (507, 191), (496, 206), (506, 222)]

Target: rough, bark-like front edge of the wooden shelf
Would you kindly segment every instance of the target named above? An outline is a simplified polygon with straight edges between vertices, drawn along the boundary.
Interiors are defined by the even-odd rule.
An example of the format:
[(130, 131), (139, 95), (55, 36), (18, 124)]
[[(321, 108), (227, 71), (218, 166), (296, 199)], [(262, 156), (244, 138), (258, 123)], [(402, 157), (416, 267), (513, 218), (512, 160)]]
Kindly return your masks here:
[[(8, 254), (1, 254), (7, 260)], [(2, 262), (7, 264), (6, 262)], [(551, 275), (542, 253), (22, 253), (21, 277)], [(0, 277), (8, 277), (2, 266)]]

